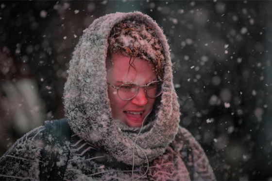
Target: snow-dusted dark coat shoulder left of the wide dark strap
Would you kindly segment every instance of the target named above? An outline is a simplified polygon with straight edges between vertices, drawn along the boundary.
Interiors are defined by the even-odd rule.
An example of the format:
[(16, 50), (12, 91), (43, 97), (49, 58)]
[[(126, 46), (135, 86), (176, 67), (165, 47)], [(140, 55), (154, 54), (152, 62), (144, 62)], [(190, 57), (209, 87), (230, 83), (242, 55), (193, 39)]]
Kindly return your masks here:
[(0, 158), (0, 180), (39, 180), (44, 126), (26, 133)]

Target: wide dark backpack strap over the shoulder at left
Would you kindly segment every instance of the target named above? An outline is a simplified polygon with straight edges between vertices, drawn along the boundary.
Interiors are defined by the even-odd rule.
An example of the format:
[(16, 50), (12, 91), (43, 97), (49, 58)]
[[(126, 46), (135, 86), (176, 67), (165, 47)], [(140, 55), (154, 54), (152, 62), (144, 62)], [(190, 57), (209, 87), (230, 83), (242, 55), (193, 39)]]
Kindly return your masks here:
[[(40, 180), (63, 180), (70, 155), (70, 138), (71, 129), (66, 118), (45, 122), (45, 130), (43, 132), (44, 146), (41, 150), (41, 162), (39, 164)], [(69, 143), (68, 145), (67, 142)], [(61, 156), (58, 148), (67, 151), (67, 159), (64, 160), (64, 164), (57, 165)]]

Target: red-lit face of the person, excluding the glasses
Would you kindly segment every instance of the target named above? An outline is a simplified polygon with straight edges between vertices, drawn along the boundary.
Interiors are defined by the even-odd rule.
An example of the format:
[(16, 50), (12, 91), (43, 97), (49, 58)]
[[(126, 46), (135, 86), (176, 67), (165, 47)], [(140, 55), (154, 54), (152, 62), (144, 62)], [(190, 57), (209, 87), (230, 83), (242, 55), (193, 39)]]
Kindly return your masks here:
[[(107, 82), (115, 87), (124, 83), (146, 85), (156, 79), (154, 65), (147, 60), (136, 58), (133, 67), (129, 65), (129, 56), (121, 53), (112, 54), (113, 65), (107, 66)], [(119, 98), (117, 89), (108, 85), (108, 96), (112, 116), (129, 127), (141, 127), (144, 118), (153, 108), (155, 98), (146, 95), (144, 88), (140, 87), (136, 96), (125, 101)]]

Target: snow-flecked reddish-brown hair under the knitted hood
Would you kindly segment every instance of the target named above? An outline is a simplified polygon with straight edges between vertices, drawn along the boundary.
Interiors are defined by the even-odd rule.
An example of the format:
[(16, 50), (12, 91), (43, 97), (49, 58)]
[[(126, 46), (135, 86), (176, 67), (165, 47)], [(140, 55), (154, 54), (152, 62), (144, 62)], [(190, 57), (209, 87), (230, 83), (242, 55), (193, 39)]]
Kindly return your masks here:
[(155, 65), (155, 72), (159, 80), (163, 77), (165, 57), (163, 46), (155, 35), (153, 27), (143, 22), (124, 20), (117, 23), (111, 30), (108, 38), (107, 59), (111, 54), (120, 51), (130, 56), (130, 67), (136, 57), (146, 59)]

